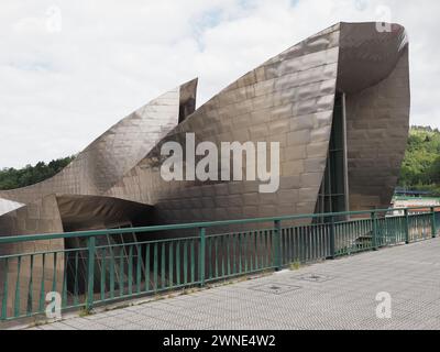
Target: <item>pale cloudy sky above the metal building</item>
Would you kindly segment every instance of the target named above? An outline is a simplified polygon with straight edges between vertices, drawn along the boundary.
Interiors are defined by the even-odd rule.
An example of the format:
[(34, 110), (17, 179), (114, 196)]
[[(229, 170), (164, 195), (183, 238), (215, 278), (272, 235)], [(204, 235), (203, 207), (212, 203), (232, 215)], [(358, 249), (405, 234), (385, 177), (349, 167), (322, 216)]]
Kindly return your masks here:
[(320, 30), (375, 20), (407, 28), (411, 123), (440, 127), (438, 0), (1, 0), (0, 168), (76, 154), (194, 77), (200, 106)]

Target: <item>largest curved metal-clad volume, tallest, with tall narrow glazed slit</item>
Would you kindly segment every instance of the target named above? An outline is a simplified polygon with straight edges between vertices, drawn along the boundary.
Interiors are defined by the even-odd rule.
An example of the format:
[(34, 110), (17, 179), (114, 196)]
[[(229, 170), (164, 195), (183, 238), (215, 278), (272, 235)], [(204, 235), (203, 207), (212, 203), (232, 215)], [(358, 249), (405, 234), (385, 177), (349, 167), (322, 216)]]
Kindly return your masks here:
[[(345, 94), (351, 209), (388, 207), (409, 129), (408, 43), (393, 25), (334, 25), (246, 74), (160, 143), (280, 143), (280, 189), (257, 183), (165, 183), (150, 153), (107, 195), (154, 205), (160, 222), (311, 213), (329, 151), (336, 94)], [(134, 190), (134, 191), (133, 191)]]

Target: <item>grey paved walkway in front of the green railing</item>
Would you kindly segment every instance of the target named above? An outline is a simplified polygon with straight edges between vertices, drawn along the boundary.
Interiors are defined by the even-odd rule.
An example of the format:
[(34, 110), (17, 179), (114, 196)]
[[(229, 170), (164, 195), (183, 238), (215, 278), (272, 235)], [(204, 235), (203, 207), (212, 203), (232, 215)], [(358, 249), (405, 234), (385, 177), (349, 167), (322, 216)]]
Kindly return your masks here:
[[(392, 318), (380, 319), (380, 293)], [(440, 329), (440, 239), (327, 261), (38, 330)]]

